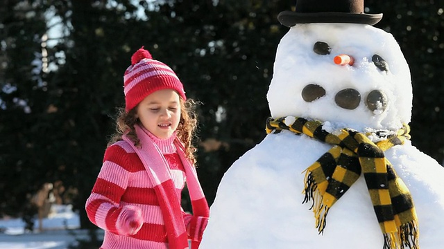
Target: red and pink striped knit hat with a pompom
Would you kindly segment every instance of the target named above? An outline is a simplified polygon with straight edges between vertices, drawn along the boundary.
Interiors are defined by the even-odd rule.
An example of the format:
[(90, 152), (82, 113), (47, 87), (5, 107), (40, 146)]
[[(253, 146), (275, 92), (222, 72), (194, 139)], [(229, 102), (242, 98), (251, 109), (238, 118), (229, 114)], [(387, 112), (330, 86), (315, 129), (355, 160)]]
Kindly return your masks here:
[(176, 90), (183, 100), (187, 100), (182, 82), (173, 69), (153, 59), (143, 46), (131, 57), (131, 66), (126, 69), (123, 81), (126, 112), (136, 107), (146, 96), (162, 89)]

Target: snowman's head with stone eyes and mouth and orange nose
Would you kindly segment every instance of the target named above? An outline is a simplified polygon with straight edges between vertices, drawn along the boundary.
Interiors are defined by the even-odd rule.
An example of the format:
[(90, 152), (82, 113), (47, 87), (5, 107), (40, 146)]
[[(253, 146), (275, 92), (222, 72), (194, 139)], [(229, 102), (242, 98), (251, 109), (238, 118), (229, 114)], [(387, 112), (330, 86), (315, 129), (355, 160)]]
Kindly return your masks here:
[(280, 41), (267, 99), (273, 118), (310, 118), (358, 131), (398, 129), (411, 118), (409, 66), (384, 30), (297, 24)]

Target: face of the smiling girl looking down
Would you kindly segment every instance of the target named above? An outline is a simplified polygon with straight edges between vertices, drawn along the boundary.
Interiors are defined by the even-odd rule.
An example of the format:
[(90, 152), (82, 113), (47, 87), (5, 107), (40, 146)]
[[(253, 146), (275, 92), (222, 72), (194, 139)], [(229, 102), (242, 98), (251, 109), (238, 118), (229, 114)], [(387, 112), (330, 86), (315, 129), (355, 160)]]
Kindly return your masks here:
[(137, 107), (137, 118), (157, 138), (171, 137), (180, 121), (179, 95), (172, 89), (155, 91)]

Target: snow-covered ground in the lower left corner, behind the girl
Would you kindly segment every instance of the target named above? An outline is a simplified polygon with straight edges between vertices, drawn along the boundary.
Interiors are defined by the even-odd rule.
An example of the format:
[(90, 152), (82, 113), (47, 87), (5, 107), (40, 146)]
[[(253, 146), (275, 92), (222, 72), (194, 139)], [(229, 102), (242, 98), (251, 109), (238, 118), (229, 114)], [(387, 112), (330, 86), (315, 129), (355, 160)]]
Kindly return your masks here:
[[(86, 239), (87, 231), (80, 230), (78, 213), (71, 205), (53, 205), (53, 213), (43, 220), (43, 232), (25, 232), (22, 219), (0, 220), (0, 248), (2, 249), (67, 249), (78, 239)], [(38, 221), (35, 220), (35, 231)]]

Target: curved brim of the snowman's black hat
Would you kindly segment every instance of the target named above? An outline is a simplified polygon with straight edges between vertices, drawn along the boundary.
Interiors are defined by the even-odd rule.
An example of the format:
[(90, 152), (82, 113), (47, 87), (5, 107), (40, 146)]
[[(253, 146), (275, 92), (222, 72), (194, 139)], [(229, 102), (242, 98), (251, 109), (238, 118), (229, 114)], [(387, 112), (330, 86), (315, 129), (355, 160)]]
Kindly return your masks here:
[(373, 26), (381, 21), (381, 19), (382, 14), (355, 14), (345, 12), (298, 13), (286, 10), (280, 12), (278, 15), (279, 22), (287, 27), (309, 23), (369, 24)]

